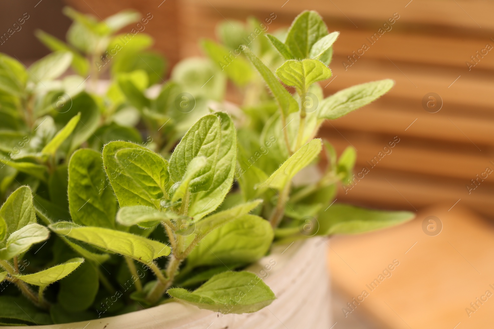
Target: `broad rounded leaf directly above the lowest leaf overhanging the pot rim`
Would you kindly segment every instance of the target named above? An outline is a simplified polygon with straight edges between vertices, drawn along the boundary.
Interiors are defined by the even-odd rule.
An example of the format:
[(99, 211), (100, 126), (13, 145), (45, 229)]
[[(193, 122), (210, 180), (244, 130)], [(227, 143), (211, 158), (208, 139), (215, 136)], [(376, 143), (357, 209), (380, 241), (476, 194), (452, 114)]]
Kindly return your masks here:
[(238, 217), (207, 234), (187, 257), (187, 267), (252, 263), (266, 255), (273, 236), (269, 221)]

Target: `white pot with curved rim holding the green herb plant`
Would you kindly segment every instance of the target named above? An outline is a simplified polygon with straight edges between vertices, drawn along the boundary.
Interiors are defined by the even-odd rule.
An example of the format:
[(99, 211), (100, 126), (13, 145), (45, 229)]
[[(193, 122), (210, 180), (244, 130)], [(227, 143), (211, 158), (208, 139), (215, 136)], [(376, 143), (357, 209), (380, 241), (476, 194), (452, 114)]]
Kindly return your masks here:
[[(170, 302), (115, 317), (42, 329), (329, 329), (328, 245), (323, 237), (274, 246), (247, 270), (257, 274), (277, 299), (249, 314), (221, 314)], [(18, 327), (11, 327), (18, 328)]]

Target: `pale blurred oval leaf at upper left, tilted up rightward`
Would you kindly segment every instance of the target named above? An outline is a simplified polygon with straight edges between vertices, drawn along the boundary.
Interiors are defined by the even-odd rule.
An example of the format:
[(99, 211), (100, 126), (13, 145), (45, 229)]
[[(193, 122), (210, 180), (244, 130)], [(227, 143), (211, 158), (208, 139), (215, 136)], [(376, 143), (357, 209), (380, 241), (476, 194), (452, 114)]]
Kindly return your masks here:
[(29, 67), (29, 79), (34, 82), (53, 80), (62, 75), (72, 63), (72, 53), (55, 51)]

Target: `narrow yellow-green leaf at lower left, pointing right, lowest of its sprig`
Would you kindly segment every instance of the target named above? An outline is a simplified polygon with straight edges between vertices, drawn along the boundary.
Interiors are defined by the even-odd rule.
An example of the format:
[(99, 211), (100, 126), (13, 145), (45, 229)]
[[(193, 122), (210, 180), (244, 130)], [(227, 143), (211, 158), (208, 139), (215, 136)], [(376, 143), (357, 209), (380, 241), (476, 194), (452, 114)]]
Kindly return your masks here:
[(72, 273), (79, 265), (82, 264), (84, 258), (72, 258), (67, 260), (64, 263), (59, 265), (55, 265), (53, 267), (47, 268), (40, 272), (36, 272), (33, 274), (19, 274), (15, 277), (21, 281), (29, 283), (34, 286), (47, 286), (52, 283), (65, 278), (67, 275)]

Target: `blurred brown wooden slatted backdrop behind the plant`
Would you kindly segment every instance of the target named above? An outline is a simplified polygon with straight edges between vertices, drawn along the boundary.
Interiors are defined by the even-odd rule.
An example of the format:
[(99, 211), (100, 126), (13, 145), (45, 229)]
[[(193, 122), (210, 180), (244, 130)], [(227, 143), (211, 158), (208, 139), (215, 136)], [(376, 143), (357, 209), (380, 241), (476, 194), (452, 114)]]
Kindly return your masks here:
[[(464, 0), (68, 0), (77, 9), (106, 17), (131, 7), (157, 18), (147, 27), (156, 48), (170, 63), (200, 55), (197, 41), (214, 38), (214, 27), (228, 19), (259, 19), (275, 13), (269, 29), (287, 27), (304, 9), (324, 17), (330, 31), (340, 31), (330, 65), (327, 95), (354, 84), (393, 78), (384, 98), (350, 115), (327, 122), (321, 135), (338, 151), (353, 145), (356, 172), (370, 169), (340, 201), (384, 208), (417, 210), (442, 202), (494, 215), (494, 3)], [(397, 14), (395, 14), (397, 13)], [(371, 44), (388, 18), (399, 15), (391, 30)], [(389, 28), (388, 28), (389, 29)], [(272, 30), (271, 30), (272, 31)], [(366, 43), (370, 48), (354, 64), (348, 60)], [(484, 51), (485, 55), (478, 55)], [(362, 53), (362, 52), (361, 52)], [(482, 54), (482, 53), (481, 53)], [(476, 56), (477, 64), (471, 58)], [(343, 65), (346, 61), (351, 66)], [(470, 70), (466, 62), (476, 64)], [(324, 86), (323, 85), (323, 86)], [(422, 106), (436, 93), (438, 112)], [(427, 99), (426, 101), (429, 101)], [(370, 164), (396, 136), (392, 153)], [(375, 163), (376, 161), (374, 161)], [(479, 175), (479, 176), (477, 176)], [(482, 176), (484, 178), (482, 178)], [(487, 176), (487, 178), (486, 178)], [(361, 176), (362, 177), (362, 176)], [(475, 183), (473, 181), (475, 181)], [(467, 186), (470, 186), (468, 188)], [(346, 192), (346, 193), (345, 193)], [(458, 201), (459, 200), (459, 201)]]

